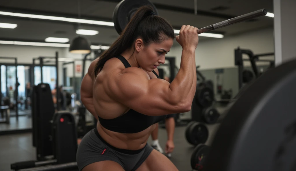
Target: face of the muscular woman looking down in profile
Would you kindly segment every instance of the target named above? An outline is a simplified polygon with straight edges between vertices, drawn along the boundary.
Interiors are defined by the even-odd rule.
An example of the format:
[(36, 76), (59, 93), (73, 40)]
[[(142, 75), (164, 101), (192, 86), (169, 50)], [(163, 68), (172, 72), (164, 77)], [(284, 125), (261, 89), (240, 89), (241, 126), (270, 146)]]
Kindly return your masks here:
[[(139, 66), (151, 72), (160, 64), (165, 63), (165, 54), (170, 51), (173, 46), (173, 39), (165, 39), (162, 43), (150, 43), (149, 46), (142, 46), (137, 49), (137, 62)], [(137, 48), (137, 47), (136, 47)]]

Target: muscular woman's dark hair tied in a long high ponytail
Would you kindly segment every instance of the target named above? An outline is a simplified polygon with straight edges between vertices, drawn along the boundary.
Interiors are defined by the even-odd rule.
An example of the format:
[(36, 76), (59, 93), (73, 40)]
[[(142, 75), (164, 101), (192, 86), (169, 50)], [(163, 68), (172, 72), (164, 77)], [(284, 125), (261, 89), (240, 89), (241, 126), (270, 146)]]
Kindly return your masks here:
[(107, 60), (131, 48), (136, 38), (141, 37), (145, 46), (152, 42), (161, 43), (164, 38), (174, 38), (174, 30), (168, 21), (156, 16), (150, 6), (140, 7), (131, 18), (120, 36), (102, 53), (94, 68), (97, 75)]

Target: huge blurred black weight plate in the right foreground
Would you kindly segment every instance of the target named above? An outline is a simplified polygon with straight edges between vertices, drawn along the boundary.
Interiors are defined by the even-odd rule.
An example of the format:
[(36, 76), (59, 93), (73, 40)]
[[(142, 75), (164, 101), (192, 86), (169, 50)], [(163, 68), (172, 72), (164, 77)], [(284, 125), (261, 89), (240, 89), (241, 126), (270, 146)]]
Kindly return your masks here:
[(295, 87), (296, 60), (250, 84), (216, 132), (204, 170), (295, 170)]

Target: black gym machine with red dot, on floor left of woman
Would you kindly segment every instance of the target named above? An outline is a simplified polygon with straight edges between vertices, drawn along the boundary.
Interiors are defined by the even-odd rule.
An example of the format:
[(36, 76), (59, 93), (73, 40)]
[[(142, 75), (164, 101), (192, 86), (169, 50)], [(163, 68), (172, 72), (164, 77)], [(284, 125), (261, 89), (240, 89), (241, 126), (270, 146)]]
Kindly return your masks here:
[[(86, 60), (87, 55), (85, 56), (85, 60)], [(83, 71), (84, 71), (84, 64), (83, 64)], [(41, 100), (38, 101), (37, 97), (34, 96), (35, 100), (33, 101), (33, 103), (34, 102), (35, 103), (49, 102), (49, 103), (51, 103), (51, 105), (48, 105), (49, 108), (52, 108), (52, 110), (54, 110), (49, 85), (41, 83), (37, 86), (34, 86), (35, 89), (36, 89), (36, 87), (44, 88), (42, 91), (36, 91), (36, 96), (37, 96), (38, 92), (47, 93), (47, 95), (39, 93), (37, 97), (42, 96), (43, 98), (46, 97), (48, 99), (47, 100), (42, 99), (43, 102), (40, 102)], [(33, 92), (35, 92), (35, 91), (33, 91)], [(71, 106), (73, 108), (76, 108), (77, 107), (75, 105), (76, 96), (75, 96), (75, 94), (72, 94), (72, 95), (74, 95), (74, 96), (72, 97)], [(38, 104), (36, 106), (39, 107), (38, 109), (43, 109), (43, 108), (40, 108), (40, 104)], [(36, 107), (33, 107), (33, 109), (35, 111), (38, 110), (38, 109), (36, 109)], [(85, 113), (85, 107), (79, 107), (78, 112)], [(39, 120), (40, 120), (41, 119), (40, 117), (42, 117), (41, 113), (42, 112), (39, 112), (38, 114), (34, 115), (34, 117), (39, 117)], [(49, 112), (49, 113), (52, 113), (52, 112)], [(47, 115), (46, 116), (47, 118), (45, 118), (43, 116), (43, 118), (42, 118), (43, 121), (48, 122), (50, 115), (52, 115), (52, 114), (49, 114), (49, 116)], [(81, 114), (79, 114), (79, 115), (81, 115)], [(52, 117), (53, 117), (53, 119), (50, 122), (52, 124), (51, 127), (49, 127), (49, 125), (47, 124), (47, 125), (45, 125), (45, 127), (43, 127), (39, 131), (33, 128), (33, 130), (36, 131), (35, 133), (33, 133), (33, 143), (36, 141), (38, 141), (38, 143), (41, 143), (41, 144), (48, 143), (47, 154), (45, 154), (45, 152), (44, 152), (44, 151), (46, 151), (46, 149), (41, 148), (41, 146), (44, 147), (44, 144), (38, 146), (38, 148), (40, 148), (40, 149), (36, 150), (36, 151), (43, 151), (42, 154), (37, 154), (37, 156), (40, 156), (40, 159), (42, 161), (28, 161), (28, 162), (14, 163), (14, 164), (11, 164), (11, 168), (13, 170), (19, 170), (19, 171), (43, 170), (43, 171), (46, 171), (46, 170), (77, 170), (78, 169), (77, 163), (76, 163), (76, 151), (77, 151), (77, 132), (76, 131), (77, 131), (77, 129), (75, 126), (75, 119), (73, 117), (73, 114), (70, 114), (70, 113), (65, 114), (65, 113), (63, 113), (63, 111), (58, 111)], [(36, 127), (37, 126), (42, 127), (43, 125), (36, 123), (36, 120), (37, 120), (37, 118), (34, 119), (33, 124), (35, 124)], [(79, 120), (81, 120), (81, 117), (79, 118)], [(82, 120), (85, 121), (85, 118), (84, 119), (82, 118)], [(69, 122), (71, 124), (69, 124)], [(61, 125), (63, 123), (64, 123), (64, 126)], [(85, 126), (85, 122), (82, 122), (81, 125)], [(79, 124), (78, 124), (78, 127), (79, 127)], [(51, 132), (52, 135), (49, 134), (49, 132), (50, 132), (49, 129), (52, 129), (52, 132)], [(85, 130), (85, 129), (86, 129), (85, 127), (82, 128), (82, 130)], [(44, 135), (45, 138), (42, 139), (45, 142), (41, 141), (41, 137), (38, 134), (39, 132), (42, 132), (42, 133), (47, 132)], [(68, 134), (70, 134), (70, 135), (68, 135)], [(39, 137), (38, 137), (38, 135), (39, 135)], [(68, 141), (66, 141), (65, 139)], [(66, 145), (66, 147), (65, 147), (65, 145)], [(33, 146), (35, 146), (35, 144), (33, 144)], [(52, 148), (50, 148), (50, 147), (52, 147)], [(52, 151), (50, 151), (50, 149), (52, 149)], [(52, 156), (45, 156), (45, 155), (50, 155), (50, 154)], [(41, 158), (41, 156), (43, 158)], [(46, 157), (48, 157), (49, 159)], [(44, 165), (48, 165), (48, 166), (44, 166)]]

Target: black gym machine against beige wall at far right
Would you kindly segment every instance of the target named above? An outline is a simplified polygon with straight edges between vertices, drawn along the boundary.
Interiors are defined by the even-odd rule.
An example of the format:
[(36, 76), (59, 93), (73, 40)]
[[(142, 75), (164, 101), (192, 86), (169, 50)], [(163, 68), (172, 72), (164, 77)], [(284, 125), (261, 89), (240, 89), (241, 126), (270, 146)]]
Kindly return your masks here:
[[(249, 59), (243, 59), (243, 54), (248, 55)], [(239, 90), (242, 88), (243, 83), (248, 83), (253, 79), (253, 73), (249, 70), (244, 70), (243, 61), (250, 61), (255, 78), (258, 78), (261, 73), (258, 72), (256, 62), (269, 62), (268, 69), (274, 68), (274, 60), (259, 59), (259, 57), (267, 57), (271, 55), (274, 55), (274, 53), (254, 54), (251, 50), (240, 49), (239, 47), (234, 49), (234, 64), (238, 66), (239, 72)]]

